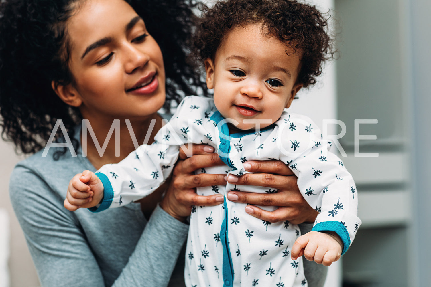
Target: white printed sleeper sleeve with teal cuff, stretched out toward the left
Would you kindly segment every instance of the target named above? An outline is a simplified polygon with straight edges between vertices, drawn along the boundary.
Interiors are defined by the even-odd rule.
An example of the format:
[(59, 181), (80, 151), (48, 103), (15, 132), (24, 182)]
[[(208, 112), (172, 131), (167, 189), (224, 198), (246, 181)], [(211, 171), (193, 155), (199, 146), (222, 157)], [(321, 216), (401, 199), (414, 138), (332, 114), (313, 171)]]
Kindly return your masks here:
[(92, 212), (119, 207), (146, 197), (160, 187), (172, 172), (178, 159), (179, 148), (188, 143), (187, 134), (181, 131), (178, 108), (171, 122), (164, 125), (151, 145), (143, 144), (116, 164), (103, 165), (96, 175), (104, 187), (101, 204)]

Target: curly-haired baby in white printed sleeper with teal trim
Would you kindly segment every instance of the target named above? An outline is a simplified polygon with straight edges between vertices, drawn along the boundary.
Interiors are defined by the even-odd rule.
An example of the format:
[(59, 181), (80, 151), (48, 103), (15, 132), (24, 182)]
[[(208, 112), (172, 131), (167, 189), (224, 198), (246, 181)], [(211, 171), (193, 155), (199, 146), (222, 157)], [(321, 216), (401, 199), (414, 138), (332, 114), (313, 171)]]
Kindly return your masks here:
[[(297, 1), (215, 4), (204, 13), (195, 39), (213, 99), (185, 97), (152, 145), (142, 145), (96, 174), (85, 171), (69, 187), (69, 196), (92, 196), (93, 211), (141, 199), (169, 178), (184, 143), (211, 145), (226, 164), (202, 173), (243, 175), (247, 160), (279, 159), (297, 175), (304, 198), (320, 212), (312, 231), (300, 236), (297, 225), (259, 220), (244, 211), (244, 204), (226, 199), (219, 206), (196, 206), (185, 281), (187, 286), (307, 286), (304, 252), (330, 265), (346, 252), (361, 224), (355, 184), (341, 160), (328, 152), (330, 143), (323, 142), (309, 118), (285, 110), (321, 72), (331, 51), (326, 25), (319, 11)], [(243, 189), (277, 192), (228, 183), (198, 188), (197, 193)]]

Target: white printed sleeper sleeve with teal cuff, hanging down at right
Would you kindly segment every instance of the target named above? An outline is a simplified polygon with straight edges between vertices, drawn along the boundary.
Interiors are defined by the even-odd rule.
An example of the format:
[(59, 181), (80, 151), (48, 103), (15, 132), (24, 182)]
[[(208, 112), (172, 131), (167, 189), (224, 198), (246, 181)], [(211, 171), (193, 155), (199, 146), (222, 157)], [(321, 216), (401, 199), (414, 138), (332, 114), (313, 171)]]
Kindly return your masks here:
[(286, 119), (280, 129), (280, 159), (297, 175), (300, 192), (319, 212), (312, 231), (336, 232), (344, 254), (361, 224), (355, 182), (341, 159), (328, 151), (331, 143), (322, 140), (315, 123), (294, 114)]

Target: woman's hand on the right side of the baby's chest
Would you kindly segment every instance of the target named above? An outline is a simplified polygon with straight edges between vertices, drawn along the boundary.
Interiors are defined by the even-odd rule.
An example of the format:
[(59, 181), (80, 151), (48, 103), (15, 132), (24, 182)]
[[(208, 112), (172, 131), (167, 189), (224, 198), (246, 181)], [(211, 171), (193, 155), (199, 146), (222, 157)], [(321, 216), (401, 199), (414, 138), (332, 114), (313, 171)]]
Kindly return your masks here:
[(279, 160), (251, 160), (244, 162), (247, 173), (240, 177), (229, 175), (227, 180), (231, 184), (248, 184), (272, 187), (278, 189), (277, 193), (249, 193), (230, 191), (228, 200), (260, 206), (278, 206), (278, 209), (269, 212), (257, 206), (247, 205), (245, 211), (254, 217), (269, 222), (287, 220), (292, 224), (314, 222), (319, 212), (315, 211), (306, 202), (297, 185), (297, 177)]

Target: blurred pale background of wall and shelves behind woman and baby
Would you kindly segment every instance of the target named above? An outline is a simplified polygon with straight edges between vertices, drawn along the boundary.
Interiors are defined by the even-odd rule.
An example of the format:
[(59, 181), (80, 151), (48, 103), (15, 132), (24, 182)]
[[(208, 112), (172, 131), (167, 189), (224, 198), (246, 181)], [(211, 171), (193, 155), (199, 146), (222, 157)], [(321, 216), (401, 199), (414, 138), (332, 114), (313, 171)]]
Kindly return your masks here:
[[(213, 2), (213, 1), (207, 1)], [(340, 138), (344, 165), (353, 174), (362, 226), (327, 287), (431, 286), (431, 68), (430, 0), (314, 0), (330, 13), (340, 57), (325, 67), (319, 83), (299, 94), (290, 108), (346, 125)], [(355, 156), (355, 119), (361, 124)], [(328, 134), (340, 134), (328, 125)], [(338, 152), (334, 148), (334, 152)], [(21, 159), (0, 141), (0, 287), (39, 286), (25, 238), (12, 211), (9, 175)]]

